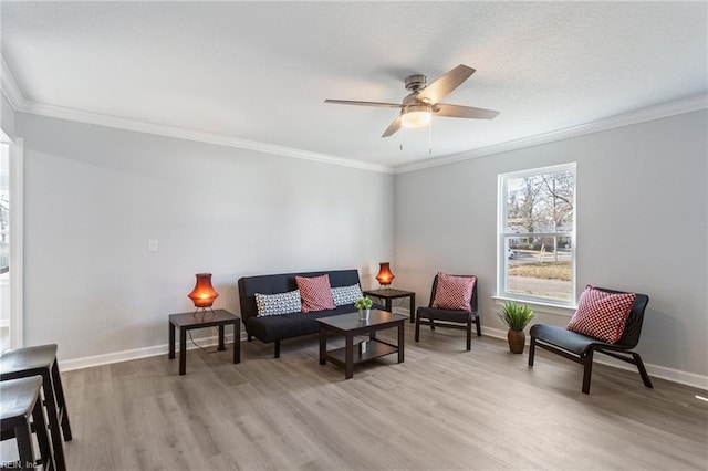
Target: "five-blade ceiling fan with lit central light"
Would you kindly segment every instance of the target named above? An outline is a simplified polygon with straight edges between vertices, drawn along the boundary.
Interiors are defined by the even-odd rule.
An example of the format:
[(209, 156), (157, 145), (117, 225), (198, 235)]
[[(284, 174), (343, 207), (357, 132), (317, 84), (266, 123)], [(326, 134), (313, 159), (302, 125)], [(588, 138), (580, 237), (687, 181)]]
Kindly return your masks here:
[(430, 123), (433, 115), (461, 117), (473, 119), (493, 119), (499, 112), (471, 106), (448, 105), (440, 100), (449, 95), (455, 88), (475, 73), (475, 69), (467, 65), (458, 65), (431, 84), (427, 84), (428, 77), (416, 74), (406, 77), (406, 90), (410, 92), (403, 103), (356, 102), (350, 100), (325, 100), (324, 103), (340, 105), (377, 106), (382, 108), (399, 108), (400, 114), (386, 128), (381, 137), (388, 137), (404, 127), (421, 127)]

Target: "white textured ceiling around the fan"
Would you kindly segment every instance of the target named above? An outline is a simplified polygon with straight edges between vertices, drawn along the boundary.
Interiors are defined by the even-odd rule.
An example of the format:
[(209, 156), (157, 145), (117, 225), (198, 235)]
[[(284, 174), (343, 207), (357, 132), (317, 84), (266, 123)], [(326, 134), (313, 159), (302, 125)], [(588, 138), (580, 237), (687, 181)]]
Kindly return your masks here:
[[(27, 104), (385, 166), (704, 95), (707, 2), (13, 2), (1, 51)], [(446, 103), (500, 112), (381, 134), (403, 80), (477, 70)], [(403, 149), (400, 148), (403, 145)]]

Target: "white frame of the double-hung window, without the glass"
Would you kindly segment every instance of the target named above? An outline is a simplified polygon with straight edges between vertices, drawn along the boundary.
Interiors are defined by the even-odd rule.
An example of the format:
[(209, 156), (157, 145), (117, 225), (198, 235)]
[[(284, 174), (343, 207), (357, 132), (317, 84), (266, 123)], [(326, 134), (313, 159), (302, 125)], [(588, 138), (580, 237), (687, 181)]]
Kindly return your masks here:
[[(568, 232), (535, 232), (533, 234), (529, 233), (517, 233), (509, 232), (507, 228), (507, 185), (508, 181), (514, 178), (523, 178), (531, 177), (543, 174), (554, 174), (559, 171), (573, 171), (575, 175), (575, 187), (573, 190), (573, 224), (572, 231), (570, 234)], [(500, 174), (498, 176), (498, 196), (497, 196), (497, 206), (498, 206), (498, 217), (497, 217), (497, 295), (494, 299), (497, 303), (513, 300), (521, 301), (534, 306), (544, 307), (549, 311), (549, 313), (553, 314), (565, 314), (574, 311), (576, 307), (575, 296), (576, 296), (576, 275), (575, 275), (575, 265), (576, 265), (576, 249), (577, 249), (577, 240), (576, 240), (576, 223), (577, 223), (577, 166), (575, 163), (554, 165), (549, 167), (540, 167), (540, 168), (531, 168), (527, 170), (517, 170), (508, 174)], [(507, 238), (508, 237), (570, 237), (571, 239), (571, 296), (570, 300), (554, 300), (549, 297), (541, 297), (534, 295), (524, 295), (520, 293), (511, 293), (507, 291)], [(553, 307), (559, 307), (559, 310), (553, 310)], [(548, 310), (550, 308), (550, 310)], [(569, 311), (566, 311), (569, 310)]]

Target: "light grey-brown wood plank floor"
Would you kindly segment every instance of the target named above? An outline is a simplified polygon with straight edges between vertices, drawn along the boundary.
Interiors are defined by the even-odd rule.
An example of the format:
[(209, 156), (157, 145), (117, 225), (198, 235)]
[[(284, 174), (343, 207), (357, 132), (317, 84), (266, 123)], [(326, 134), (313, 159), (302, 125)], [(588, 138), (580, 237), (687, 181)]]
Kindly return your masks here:
[[(394, 331), (391, 331), (392, 333)], [(382, 335), (379, 335), (381, 337)], [(393, 337), (392, 337), (393, 338)], [(506, 342), (406, 324), (406, 360), (354, 378), (317, 364), (316, 336), (167, 355), (63, 374), (70, 470), (706, 470), (705, 391)], [(61, 365), (60, 365), (61, 366)]]

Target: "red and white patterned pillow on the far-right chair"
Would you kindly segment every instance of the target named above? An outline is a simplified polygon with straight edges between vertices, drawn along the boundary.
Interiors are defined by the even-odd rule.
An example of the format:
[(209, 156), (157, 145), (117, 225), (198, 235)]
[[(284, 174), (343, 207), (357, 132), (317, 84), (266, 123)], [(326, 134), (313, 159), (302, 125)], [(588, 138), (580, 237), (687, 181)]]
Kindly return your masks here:
[(614, 344), (622, 338), (636, 297), (634, 293), (607, 293), (587, 285), (565, 328)]

